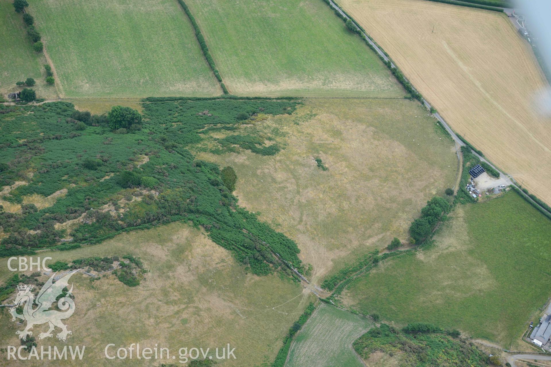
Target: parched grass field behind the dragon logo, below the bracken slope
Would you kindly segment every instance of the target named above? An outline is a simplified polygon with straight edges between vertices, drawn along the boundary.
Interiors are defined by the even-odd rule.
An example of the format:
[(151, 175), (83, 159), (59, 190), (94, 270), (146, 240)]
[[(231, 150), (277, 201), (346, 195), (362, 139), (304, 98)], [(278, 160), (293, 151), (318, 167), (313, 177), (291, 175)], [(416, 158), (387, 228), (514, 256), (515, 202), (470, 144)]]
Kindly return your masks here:
[[(142, 259), (149, 270), (145, 280), (131, 288), (114, 275), (95, 282), (85, 275), (73, 275), (75, 313), (64, 321), (73, 334), (67, 343), (55, 337), (37, 340), (39, 348), (85, 345), (85, 358), (79, 365), (96, 367), (112, 365), (113, 361), (104, 357), (108, 343), (116, 343), (117, 348), (137, 342), (143, 347), (158, 343), (176, 355), (181, 347), (215, 348), (230, 343), (236, 348), (237, 359), (219, 360), (217, 366), (258, 366), (276, 357), (290, 325), (313, 301), (311, 293), (303, 292), (298, 283), (277, 275), (247, 274), (228, 251), (182, 223), (125, 233), (72, 251), (41, 252), (35, 256), (50, 256), (53, 259), (48, 263), (53, 263), (127, 253)], [(0, 259), (2, 282), (13, 275), (7, 270), (7, 260)], [(47, 276), (41, 278), (46, 279)], [(4, 303), (7, 302), (9, 299)], [(11, 316), (4, 310), (0, 310), (2, 347), (19, 346), (15, 330), (22, 326), (10, 321)], [(46, 329), (47, 325), (36, 325), (33, 336)], [(144, 365), (143, 360), (136, 358), (124, 362)], [(156, 362), (180, 365), (179, 359)], [(1, 355), (0, 365), (6, 363), (5, 354)], [(20, 360), (8, 363), (29, 365), (29, 361)], [(73, 364), (71, 360), (66, 364), (45, 360), (40, 365)]]

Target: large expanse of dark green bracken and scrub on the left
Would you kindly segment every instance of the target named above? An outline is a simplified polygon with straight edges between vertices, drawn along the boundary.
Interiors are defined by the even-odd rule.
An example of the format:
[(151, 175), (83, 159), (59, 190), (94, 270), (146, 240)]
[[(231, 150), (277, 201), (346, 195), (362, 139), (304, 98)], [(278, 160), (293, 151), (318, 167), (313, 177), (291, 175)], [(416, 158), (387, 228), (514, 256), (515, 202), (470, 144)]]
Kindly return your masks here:
[[(98, 115), (89, 120), (84, 116), (89, 126), (77, 130), (81, 121), (72, 116), (83, 116), (77, 116), (74, 106), (67, 102), (0, 106), (4, 133), (0, 136), (0, 182), (28, 183), (2, 199), (21, 204), (25, 196), (50, 196), (67, 190), (52, 206), (36, 212), (0, 210), (0, 225), (7, 233), (0, 244), (0, 256), (57, 246), (64, 237), (71, 237), (72, 242), (56, 248), (98, 243), (117, 233), (185, 220), (201, 226), (254, 274), (276, 269), (290, 274), (280, 259), (302, 271), (296, 243), (239, 207), (224, 185), (219, 166), (196, 160), (188, 150), (206, 138), (199, 132), (207, 127), (239, 126), (236, 115), (240, 112), (249, 116), (287, 114), (296, 104), (233, 98), (145, 103), (143, 129), (129, 134), (114, 134), (105, 116)], [(261, 146), (255, 136), (236, 135), (235, 139), (237, 147), (242, 145), (259, 154), (280, 149), (276, 144)], [(230, 145), (231, 140), (226, 142)], [(220, 144), (215, 149), (225, 148)], [(149, 158), (147, 163), (140, 158), (143, 156)], [(29, 169), (34, 171), (32, 179), (26, 176)], [(155, 194), (146, 191), (152, 184)], [(140, 199), (133, 200), (133, 196)], [(119, 202), (127, 197), (125, 212), (105, 209), (110, 205), (120, 208)], [(71, 232), (56, 230), (56, 223), (81, 216), (82, 223)]]

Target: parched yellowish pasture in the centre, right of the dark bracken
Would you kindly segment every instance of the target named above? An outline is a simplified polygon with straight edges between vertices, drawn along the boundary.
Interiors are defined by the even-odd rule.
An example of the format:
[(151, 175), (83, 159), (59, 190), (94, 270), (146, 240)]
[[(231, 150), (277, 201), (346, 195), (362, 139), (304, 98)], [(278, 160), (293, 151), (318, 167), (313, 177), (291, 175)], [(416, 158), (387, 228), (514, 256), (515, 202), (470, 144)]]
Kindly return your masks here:
[(276, 155), (197, 157), (233, 166), (239, 204), (295, 240), (318, 282), (395, 236), (407, 242), (426, 201), (453, 186), (455, 147), (435, 121), (407, 99), (307, 99), (238, 132), (276, 135)]

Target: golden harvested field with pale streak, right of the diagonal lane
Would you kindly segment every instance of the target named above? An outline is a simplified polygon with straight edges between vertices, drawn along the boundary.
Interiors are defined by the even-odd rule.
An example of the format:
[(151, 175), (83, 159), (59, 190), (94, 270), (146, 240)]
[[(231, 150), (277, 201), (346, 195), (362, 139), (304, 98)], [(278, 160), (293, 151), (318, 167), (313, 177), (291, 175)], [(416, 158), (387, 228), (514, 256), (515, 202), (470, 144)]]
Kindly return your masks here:
[(551, 117), (534, 102), (548, 84), (505, 14), (423, 0), (339, 4), (453, 129), (551, 203)]

